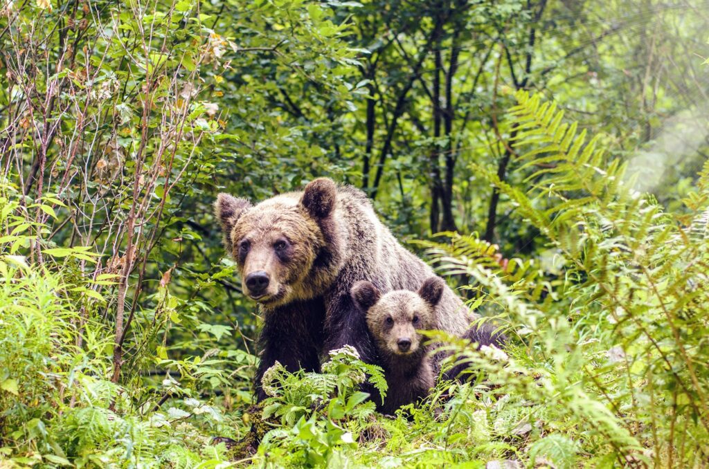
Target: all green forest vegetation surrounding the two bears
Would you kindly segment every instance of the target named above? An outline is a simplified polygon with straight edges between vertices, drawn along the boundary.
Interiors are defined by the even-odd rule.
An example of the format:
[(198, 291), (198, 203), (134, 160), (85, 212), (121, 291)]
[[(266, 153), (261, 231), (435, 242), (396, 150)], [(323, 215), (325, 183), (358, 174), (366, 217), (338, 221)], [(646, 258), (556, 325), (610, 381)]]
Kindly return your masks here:
[[(691, 1), (0, 0), (0, 467), (705, 467), (708, 25)], [(443, 337), (476, 380), (385, 417), (345, 348), (251, 406), (259, 318), (211, 203), (316, 176), (510, 336)]]

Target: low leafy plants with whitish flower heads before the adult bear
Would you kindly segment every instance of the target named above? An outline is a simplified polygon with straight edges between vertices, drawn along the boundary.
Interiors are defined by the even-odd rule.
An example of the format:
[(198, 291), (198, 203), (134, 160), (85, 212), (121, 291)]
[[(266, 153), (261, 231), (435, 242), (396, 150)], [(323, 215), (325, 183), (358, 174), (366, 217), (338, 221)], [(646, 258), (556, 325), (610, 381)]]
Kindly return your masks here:
[(264, 436), (259, 455), (296, 467), (337, 467), (352, 460), (355, 439), (374, 419), (374, 402), (365, 402), (369, 394), (359, 390), (366, 380), (384, 395), (381, 368), (359, 361), (351, 346), (331, 351), (322, 373), (288, 373), (276, 363), (263, 377), (270, 397), (262, 419), (277, 417), (283, 428)]

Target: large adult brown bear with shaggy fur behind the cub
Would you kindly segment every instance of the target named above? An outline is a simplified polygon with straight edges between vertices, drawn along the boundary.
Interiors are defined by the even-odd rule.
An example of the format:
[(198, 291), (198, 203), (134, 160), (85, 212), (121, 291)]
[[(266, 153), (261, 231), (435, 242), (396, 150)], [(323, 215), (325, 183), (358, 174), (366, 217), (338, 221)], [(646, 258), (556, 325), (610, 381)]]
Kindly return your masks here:
[[(352, 303), (355, 281), (384, 291), (416, 290), (433, 271), (408, 252), (352, 186), (316, 179), (304, 191), (251, 205), (222, 193), (215, 203), (224, 246), (237, 262), (244, 293), (261, 305), (261, 363), (319, 371), (320, 356), (345, 344), (376, 363), (364, 314)], [(462, 334), (471, 315), (447, 286), (436, 307), (436, 329)]]

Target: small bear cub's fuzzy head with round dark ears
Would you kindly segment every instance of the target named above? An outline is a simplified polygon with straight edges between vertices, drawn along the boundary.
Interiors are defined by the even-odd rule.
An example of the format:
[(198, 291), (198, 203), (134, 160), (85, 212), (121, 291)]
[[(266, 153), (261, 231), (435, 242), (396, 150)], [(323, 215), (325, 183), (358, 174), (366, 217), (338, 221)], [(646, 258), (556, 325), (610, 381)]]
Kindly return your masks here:
[(393, 290), (382, 295), (371, 282), (359, 281), (350, 293), (367, 315), (367, 327), (380, 353), (404, 357), (423, 351), (423, 337), (418, 331), (435, 328), (435, 306), (444, 288), (441, 278), (431, 277), (418, 292)]

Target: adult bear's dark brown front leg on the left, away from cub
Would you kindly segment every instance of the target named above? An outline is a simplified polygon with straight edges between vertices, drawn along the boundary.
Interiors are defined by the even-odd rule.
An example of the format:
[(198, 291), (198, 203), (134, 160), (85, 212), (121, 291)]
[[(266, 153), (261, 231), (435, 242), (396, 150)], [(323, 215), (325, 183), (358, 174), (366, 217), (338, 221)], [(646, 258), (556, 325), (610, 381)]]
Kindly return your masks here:
[(298, 301), (262, 312), (264, 325), (259, 336), (260, 363), (255, 376), (256, 400), (266, 397), (262, 378), (277, 361), (287, 371), (320, 371), (325, 307), (322, 298)]

